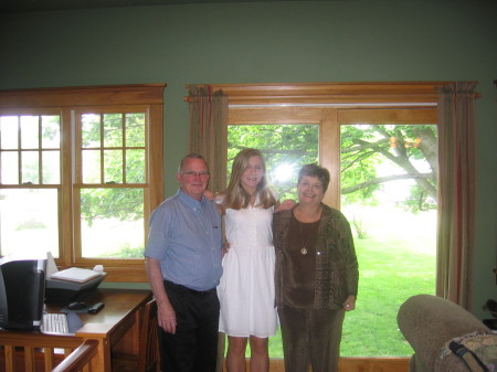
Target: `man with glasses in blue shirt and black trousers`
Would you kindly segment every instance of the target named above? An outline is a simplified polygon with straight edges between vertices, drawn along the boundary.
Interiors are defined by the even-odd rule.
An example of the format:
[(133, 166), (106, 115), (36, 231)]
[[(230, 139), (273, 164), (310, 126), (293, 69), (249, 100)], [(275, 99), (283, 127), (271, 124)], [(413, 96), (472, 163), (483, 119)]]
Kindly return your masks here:
[(209, 169), (202, 156), (186, 156), (176, 178), (180, 189), (154, 211), (145, 249), (158, 305), (162, 371), (214, 372), (221, 215), (203, 195)]

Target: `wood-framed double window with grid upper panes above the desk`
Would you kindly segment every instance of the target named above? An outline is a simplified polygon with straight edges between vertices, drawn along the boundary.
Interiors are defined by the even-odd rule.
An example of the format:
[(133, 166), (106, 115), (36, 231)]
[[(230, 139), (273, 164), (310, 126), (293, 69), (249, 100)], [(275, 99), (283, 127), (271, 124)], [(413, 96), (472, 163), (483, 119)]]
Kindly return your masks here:
[(0, 255), (51, 252), (60, 267), (103, 264), (107, 280), (146, 281), (163, 88), (0, 92)]

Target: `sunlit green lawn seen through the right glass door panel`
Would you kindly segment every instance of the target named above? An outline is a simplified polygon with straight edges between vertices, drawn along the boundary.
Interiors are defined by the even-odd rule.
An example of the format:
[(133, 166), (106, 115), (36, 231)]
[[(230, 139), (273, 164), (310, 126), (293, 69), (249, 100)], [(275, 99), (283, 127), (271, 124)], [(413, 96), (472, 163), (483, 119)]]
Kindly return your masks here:
[(435, 259), (402, 241), (356, 241), (360, 278), (357, 309), (347, 313), (341, 354), (396, 357), (413, 351), (399, 331), (396, 313), (409, 297), (434, 294)]

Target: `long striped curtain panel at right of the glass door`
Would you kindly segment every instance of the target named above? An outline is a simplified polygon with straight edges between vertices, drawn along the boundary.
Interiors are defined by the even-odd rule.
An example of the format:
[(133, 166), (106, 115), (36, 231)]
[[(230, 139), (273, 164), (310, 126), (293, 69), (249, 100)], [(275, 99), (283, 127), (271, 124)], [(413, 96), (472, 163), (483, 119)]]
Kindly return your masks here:
[(438, 88), (436, 294), (470, 310), (475, 256), (476, 83)]

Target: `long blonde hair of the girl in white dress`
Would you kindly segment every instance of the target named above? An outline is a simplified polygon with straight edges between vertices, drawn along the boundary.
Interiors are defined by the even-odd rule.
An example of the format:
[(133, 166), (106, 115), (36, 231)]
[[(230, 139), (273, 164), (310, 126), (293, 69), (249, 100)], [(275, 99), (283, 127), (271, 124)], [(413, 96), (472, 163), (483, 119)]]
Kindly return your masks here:
[(226, 190), (220, 193), (223, 196), (224, 209), (240, 210), (248, 206), (251, 195), (243, 189), (241, 179), (243, 172), (248, 167), (248, 159), (252, 157), (260, 157), (263, 166), (263, 177), (256, 189), (256, 194), (258, 195), (258, 204), (256, 206), (267, 209), (277, 204), (276, 198), (269, 190), (269, 181), (267, 180), (266, 163), (263, 155), (260, 150), (248, 148), (240, 151), (233, 160), (230, 183)]

